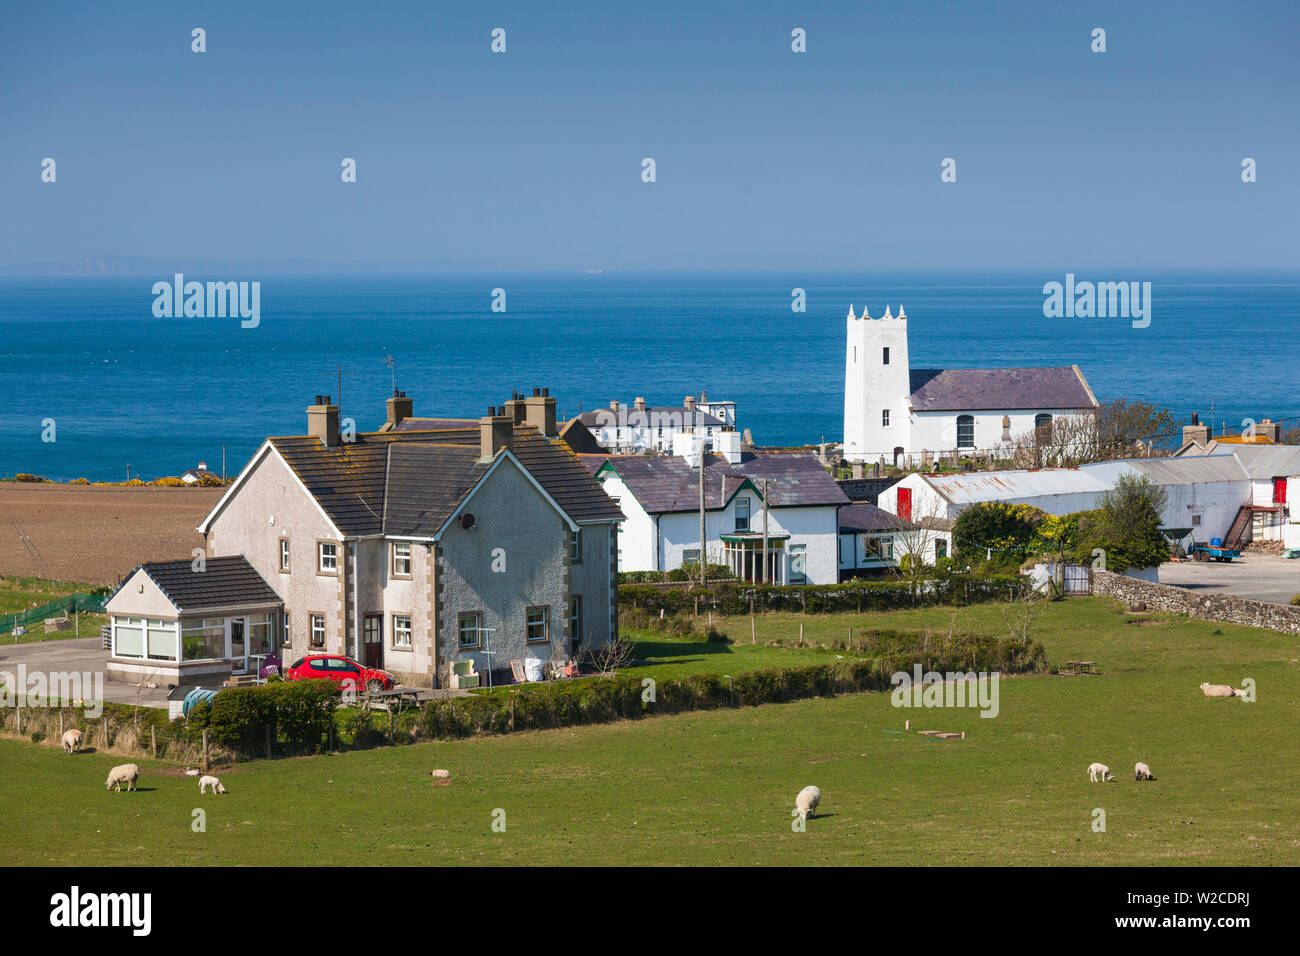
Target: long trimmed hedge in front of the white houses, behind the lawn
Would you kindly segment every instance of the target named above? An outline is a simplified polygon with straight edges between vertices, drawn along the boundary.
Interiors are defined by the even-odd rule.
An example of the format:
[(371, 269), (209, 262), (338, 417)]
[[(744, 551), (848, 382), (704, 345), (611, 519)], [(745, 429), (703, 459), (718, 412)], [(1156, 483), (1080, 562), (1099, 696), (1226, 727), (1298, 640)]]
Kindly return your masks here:
[(753, 611), (889, 611), (1006, 600), (1024, 587), (1019, 575), (979, 575), (906, 580), (846, 581), (822, 585), (718, 584), (708, 591), (624, 584), (619, 605), (658, 614), (750, 614)]

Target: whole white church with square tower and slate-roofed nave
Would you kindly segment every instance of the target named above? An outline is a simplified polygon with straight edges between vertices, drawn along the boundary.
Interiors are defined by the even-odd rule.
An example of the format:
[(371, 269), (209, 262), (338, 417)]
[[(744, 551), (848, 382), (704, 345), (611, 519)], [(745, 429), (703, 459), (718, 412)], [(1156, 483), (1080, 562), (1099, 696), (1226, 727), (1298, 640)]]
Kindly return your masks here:
[(1078, 365), (1056, 368), (913, 368), (907, 315), (872, 319), (849, 306), (845, 346), (844, 457), (906, 464), (926, 453), (993, 450), (1091, 414), (1097, 399)]

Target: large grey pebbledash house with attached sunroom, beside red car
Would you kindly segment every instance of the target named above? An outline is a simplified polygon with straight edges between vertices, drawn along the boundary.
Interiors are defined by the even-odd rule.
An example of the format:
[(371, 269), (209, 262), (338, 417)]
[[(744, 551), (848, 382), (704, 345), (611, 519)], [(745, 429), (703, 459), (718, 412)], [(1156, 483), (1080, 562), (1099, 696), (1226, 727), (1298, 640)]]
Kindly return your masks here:
[[(623, 514), (558, 438), (554, 398), (489, 411), (428, 428), (395, 395), (380, 431), (344, 440), (338, 406), (318, 399), (308, 434), (268, 438), (199, 525), (207, 571), (144, 564), (113, 594), (110, 672), (188, 683), (254, 671), (263, 653), (330, 653), (446, 687), (456, 662), (502, 679), (511, 661), (611, 640)], [(196, 583), (213, 568), (276, 600), (222, 605), (220, 588)], [(155, 580), (204, 598), (169, 605)], [(155, 656), (162, 620), (177, 640)]]

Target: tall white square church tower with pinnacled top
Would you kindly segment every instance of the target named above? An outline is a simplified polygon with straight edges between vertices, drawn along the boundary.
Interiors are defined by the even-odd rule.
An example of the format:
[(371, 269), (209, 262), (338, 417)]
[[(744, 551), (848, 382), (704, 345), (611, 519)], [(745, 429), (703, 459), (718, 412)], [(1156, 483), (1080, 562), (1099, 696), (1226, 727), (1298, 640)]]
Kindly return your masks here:
[(894, 450), (911, 447), (911, 371), (907, 315), (872, 319), (849, 306), (849, 342), (844, 372), (844, 457), (850, 462), (894, 463)]

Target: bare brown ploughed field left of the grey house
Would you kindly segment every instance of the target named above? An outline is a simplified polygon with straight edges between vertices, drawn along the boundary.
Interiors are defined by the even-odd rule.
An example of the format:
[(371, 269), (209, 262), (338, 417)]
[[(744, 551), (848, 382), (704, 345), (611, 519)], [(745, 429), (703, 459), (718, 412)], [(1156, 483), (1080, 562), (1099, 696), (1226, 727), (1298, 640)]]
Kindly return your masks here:
[(224, 490), (0, 481), (0, 575), (116, 584), (142, 562), (188, 558)]

